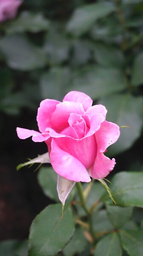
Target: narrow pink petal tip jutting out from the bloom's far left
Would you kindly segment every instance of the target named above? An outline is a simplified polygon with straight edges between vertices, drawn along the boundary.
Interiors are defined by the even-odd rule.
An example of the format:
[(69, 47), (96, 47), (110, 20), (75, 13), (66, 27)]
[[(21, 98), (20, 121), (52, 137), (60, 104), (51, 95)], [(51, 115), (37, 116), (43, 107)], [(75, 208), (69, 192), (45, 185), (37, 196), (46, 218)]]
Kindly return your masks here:
[(28, 130), (17, 127), (17, 135), (20, 139), (25, 140), (32, 136), (34, 142), (43, 142), (49, 139), (49, 133), (41, 134), (38, 131)]

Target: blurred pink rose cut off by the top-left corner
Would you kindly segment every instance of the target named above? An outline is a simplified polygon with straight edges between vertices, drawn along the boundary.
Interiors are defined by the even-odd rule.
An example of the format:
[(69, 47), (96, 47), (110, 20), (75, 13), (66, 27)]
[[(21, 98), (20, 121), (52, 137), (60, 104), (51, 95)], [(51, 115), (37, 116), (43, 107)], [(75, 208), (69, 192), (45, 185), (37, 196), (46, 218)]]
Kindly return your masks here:
[(21, 0), (0, 0), (0, 22), (13, 19), (21, 3)]

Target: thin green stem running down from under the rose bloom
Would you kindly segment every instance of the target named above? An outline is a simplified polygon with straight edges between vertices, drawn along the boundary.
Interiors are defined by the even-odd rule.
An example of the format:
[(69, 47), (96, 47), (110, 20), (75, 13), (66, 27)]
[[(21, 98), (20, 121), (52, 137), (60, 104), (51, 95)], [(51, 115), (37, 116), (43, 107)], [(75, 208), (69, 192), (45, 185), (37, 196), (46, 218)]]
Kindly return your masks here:
[(86, 201), (83, 196), (83, 188), (80, 182), (76, 182), (77, 192), (80, 198), (81, 206), (83, 207), (84, 211), (86, 212), (89, 220), (89, 229), (93, 237), (93, 244), (95, 243), (95, 234), (93, 230), (93, 224), (92, 224), (92, 212), (89, 211), (89, 209), (86, 206)]

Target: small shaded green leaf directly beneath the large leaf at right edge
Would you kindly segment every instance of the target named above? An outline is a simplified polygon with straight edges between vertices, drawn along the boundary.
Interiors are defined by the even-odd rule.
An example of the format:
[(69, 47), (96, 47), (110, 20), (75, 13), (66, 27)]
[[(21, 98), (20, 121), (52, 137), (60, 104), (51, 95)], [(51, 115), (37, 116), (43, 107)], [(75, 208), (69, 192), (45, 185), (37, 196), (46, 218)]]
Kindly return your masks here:
[[(114, 228), (122, 227), (132, 216), (132, 207), (120, 207), (120, 206), (106, 206), (109, 221), (114, 225)], [(122, 216), (122, 217), (121, 217)]]

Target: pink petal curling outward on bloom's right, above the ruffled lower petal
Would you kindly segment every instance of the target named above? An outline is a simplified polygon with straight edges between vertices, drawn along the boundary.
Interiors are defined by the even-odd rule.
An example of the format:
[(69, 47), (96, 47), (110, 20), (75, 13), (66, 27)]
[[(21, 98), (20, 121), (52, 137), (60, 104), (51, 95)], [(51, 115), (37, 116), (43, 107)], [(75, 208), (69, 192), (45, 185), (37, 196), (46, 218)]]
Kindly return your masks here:
[(95, 133), (98, 150), (105, 152), (106, 148), (115, 143), (119, 136), (119, 126), (112, 122), (104, 121), (100, 129)]

